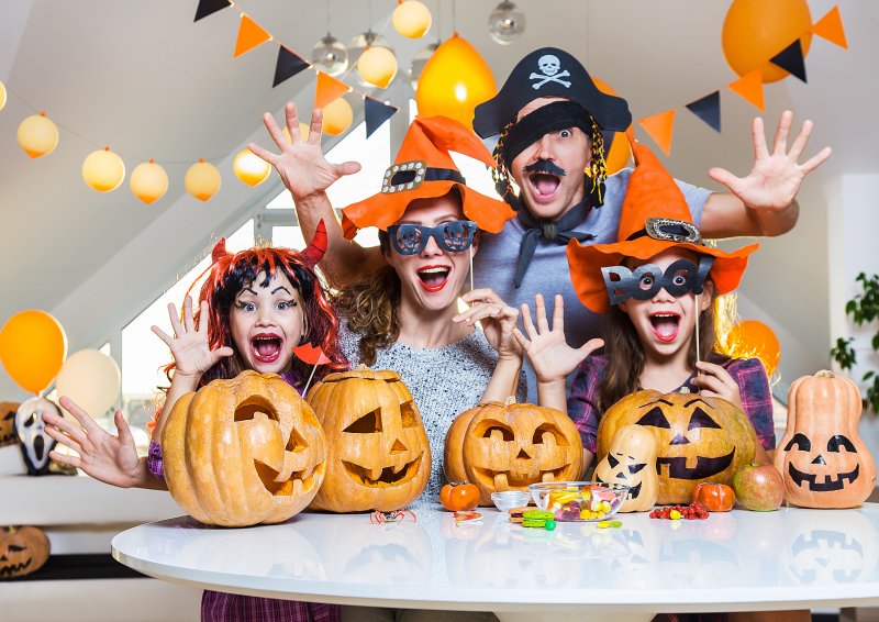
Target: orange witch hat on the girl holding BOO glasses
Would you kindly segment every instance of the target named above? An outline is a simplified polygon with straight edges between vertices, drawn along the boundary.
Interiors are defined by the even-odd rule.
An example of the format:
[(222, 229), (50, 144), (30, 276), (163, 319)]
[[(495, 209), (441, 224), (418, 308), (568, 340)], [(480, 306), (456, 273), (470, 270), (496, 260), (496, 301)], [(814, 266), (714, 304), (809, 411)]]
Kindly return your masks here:
[(649, 259), (668, 248), (687, 248), (714, 257), (709, 276), (717, 296), (738, 287), (748, 264), (748, 255), (760, 247), (749, 244), (732, 253), (705, 246), (693, 225), (690, 208), (675, 179), (644, 145), (630, 132), (635, 156), (635, 170), (620, 212), (620, 231), (613, 244), (581, 246), (568, 243), (568, 266), (574, 290), (580, 301), (596, 313), (610, 308), (602, 268), (619, 266), (626, 257)]

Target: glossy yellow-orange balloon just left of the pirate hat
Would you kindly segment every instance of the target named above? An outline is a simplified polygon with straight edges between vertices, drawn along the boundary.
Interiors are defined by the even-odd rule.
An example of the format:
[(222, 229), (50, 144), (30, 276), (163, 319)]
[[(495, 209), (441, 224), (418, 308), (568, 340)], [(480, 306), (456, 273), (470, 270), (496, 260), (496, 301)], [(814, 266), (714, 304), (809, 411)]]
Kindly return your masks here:
[(472, 127), (474, 109), (498, 92), (494, 76), (476, 48), (457, 34), (424, 66), (415, 103), (419, 115), (442, 114)]

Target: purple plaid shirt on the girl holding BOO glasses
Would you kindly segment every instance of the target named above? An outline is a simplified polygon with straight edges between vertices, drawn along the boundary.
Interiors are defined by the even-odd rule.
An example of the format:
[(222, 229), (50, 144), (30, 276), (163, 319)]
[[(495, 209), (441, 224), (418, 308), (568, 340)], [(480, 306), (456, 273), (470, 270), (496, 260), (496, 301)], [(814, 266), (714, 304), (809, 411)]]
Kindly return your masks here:
[[(772, 393), (769, 389), (769, 378), (766, 369), (758, 358), (731, 358), (721, 364), (735, 384), (742, 398), (742, 407), (750, 420), (757, 440), (766, 449), (776, 446), (776, 431), (772, 423)], [(568, 398), (568, 415), (574, 420), (583, 448), (596, 453), (596, 436), (601, 414), (598, 411), (598, 389), (604, 379), (608, 369), (608, 356), (589, 356), (574, 373), (574, 382)], [(697, 388), (690, 381), (696, 375), (690, 376), (678, 390), (687, 387), (696, 392)]]

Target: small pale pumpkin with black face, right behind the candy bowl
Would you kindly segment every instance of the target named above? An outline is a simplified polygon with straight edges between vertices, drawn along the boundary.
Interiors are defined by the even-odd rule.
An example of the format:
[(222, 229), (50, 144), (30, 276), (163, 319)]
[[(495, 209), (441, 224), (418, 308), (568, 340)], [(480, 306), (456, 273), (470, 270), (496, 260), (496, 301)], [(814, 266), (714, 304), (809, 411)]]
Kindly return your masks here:
[(621, 512), (645, 512), (656, 504), (656, 437), (641, 425), (624, 425), (611, 440), (608, 455), (596, 467), (596, 480), (628, 486)]

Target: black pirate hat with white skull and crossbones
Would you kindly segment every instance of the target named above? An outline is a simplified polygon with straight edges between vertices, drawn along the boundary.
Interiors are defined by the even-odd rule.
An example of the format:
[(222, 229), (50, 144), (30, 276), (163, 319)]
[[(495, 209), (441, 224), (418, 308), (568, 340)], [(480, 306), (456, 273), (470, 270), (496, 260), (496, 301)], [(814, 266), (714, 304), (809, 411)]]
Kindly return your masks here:
[(557, 47), (541, 47), (513, 67), (498, 95), (476, 107), (474, 130), (483, 138), (500, 134), (525, 104), (541, 97), (579, 103), (602, 130), (624, 132), (632, 123), (626, 101), (601, 92), (579, 60)]

